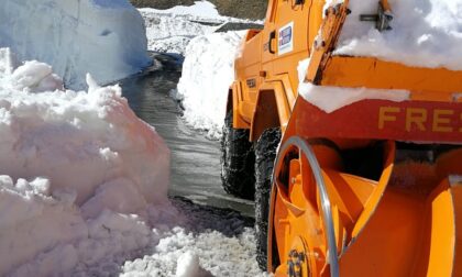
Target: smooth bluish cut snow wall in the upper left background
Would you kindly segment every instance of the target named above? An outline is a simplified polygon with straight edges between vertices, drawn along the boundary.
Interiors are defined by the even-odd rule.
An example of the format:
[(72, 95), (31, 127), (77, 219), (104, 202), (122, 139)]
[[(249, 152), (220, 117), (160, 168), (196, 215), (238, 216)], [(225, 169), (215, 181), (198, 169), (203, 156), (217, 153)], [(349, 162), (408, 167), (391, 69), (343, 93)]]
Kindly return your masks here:
[(140, 71), (146, 56), (143, 19), (127, 0), (2, 0), (0, 47), (53, 66), (67, 87), (90, 73), (108, 84)]

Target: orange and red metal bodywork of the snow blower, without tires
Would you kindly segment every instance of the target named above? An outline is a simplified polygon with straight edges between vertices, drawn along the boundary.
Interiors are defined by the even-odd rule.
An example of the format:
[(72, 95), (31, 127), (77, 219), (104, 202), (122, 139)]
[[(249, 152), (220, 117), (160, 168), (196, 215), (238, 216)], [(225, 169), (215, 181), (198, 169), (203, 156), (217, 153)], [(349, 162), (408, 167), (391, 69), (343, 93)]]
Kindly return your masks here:
[[(331, 275), (332, 257), (341, 276), (462, 275), (462, 187), (448, 178), (462, 175), (462, 151), (430, 164), (395, 160), (395, 141), (462, 145), (462, 71), (333, 56), (348, 4), (323, 16), (323, 0), (270, 0), (264, 30), (249, 32), (235, 62), (234, 128), (250, 129), (256, 141), (265, 129), (280, 126), (283, 145), (293, 136), (312, 145), (331, 206), (336, 254), (328, 251), (328, 219), (308, 158), (295, 146), (279, 153), (284, 163), (274, 174), (268, 269), (286, 276), (299, 262), (292, 253), (304, 253), (297, 264), (301, 276)], [(284, 36), (290, 24), (289, 47)], [(326, 113), (297, 93), (298, 63), (308, 56), (306, 81), (314, 85), (408, 90), (409, 99), (363, 100)], [(380, 178), (346, 173), (340, 151), (377, 142), (383, 143)]]

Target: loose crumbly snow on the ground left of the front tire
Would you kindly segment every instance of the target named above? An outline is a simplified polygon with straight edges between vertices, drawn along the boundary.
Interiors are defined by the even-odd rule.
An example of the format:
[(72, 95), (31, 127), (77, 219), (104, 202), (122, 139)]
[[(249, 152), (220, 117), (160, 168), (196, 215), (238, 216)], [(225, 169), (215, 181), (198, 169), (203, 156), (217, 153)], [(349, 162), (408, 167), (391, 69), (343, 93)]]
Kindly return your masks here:
[(123, 276), (268, 276), (255, 259), (252, 221), (230, 210), (173, 202), (185, 217), (182, 226), (165, 226), (148, 254), (124, 264)]

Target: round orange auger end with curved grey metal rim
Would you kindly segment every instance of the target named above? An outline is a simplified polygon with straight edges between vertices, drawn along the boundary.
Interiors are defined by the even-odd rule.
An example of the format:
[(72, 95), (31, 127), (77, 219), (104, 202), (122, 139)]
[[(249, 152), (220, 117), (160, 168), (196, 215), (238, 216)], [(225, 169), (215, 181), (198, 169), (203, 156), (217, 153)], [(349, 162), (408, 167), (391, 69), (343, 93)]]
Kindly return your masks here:
[[(290, 156), (294, 156), (294, 154), (295, 158), (290, 159)], [(295, 163), (298, 163), (298, 166), (300, 167), (298, 175), (296, 170), (295, 174), (292, 173), (292, 165), (288, 165), (288, 163), (293, 163), (294, 160)], [(301, 174), (307, 171), (301, 170), (301, 168), (306, 168), (307, 166), (310, 168), (308, 171), (311, 176)], [(295, 165), (295, 168), (296, 167), (297, 165)], [(287, 170), (287, 168), (289, 169)], [(309, 179), (312, 180), (312, 187), (318, 191), (316, 197), (318, 207), (316, 207), (316, 204), (312, 207), (299, 207), (297, 203), (293, 203), (290, 199), (288, 199), (290, 186), (297, 181), (301, 184), (301, 180), (305, 182)], [(326, 270), (330, 272), (330, 276), (339, 276), (338, 247), (332, 208), (318, 159), (316, 158), (312, 147), (305, 140), (294, 136), (282, 145), (275, 162), (272, 182), (268, 245), (272, 245), (274, 236), (276, 236), (278, 244), (285, 245), (284, 251), (286, 253), (282, 255), (279, 252), (282, 268), (286, 269), (285, 274), (290, 275), (292, 273), (290, 263), (293, 262), (290, 261), (294, 259), (294, 255), (292, 254), (297, 252), (297, 258), (299, 258), (300, 253), (298, 250), (300, 247), (297, 245), (305, 244), (307, 253), (302, 253), (302, 262), (308, 265), (309, 269), (305, 269), (305, 273), (301, 273), (301, 275), (293, 276), (310, 276), (311, 273), (317, 272), (322, 274), (326, 273)], [(300, 193), (304, 195), (302, 192)], [(304, 200), (309, 201), (308, 199)], [(290, 221), (290, 219), (293, 219), (293, 221)], [(290, 222), (296, 222), (296, 224), (290, 225)], [(302, 224), (305, 224), (304, 228), (300, 228), (300, 231), (297, 231), (297, 225)], [(277, 228), (278, 230), (274, 230), (274, 228)], [(280, 229), (288, 229), (290, 235), (287, 235), (286, 231), (283, 232), (284, 239), (280, 237), (280, 234), (275, 234), (275, 232), (280, 233)], [(304, 232), (304, 230), (307, 232)], [(299, 233), (299, 235), (297, 235), (297, 233)], [(282, 240), (284, 240), (284, 242), (282, 242)], [(334, 254), (332, 255), (332, 253)], [(272, 247), (268, 247), (270, 269), (273, 269), (271, 268), (273, 266), (272, 256)]]

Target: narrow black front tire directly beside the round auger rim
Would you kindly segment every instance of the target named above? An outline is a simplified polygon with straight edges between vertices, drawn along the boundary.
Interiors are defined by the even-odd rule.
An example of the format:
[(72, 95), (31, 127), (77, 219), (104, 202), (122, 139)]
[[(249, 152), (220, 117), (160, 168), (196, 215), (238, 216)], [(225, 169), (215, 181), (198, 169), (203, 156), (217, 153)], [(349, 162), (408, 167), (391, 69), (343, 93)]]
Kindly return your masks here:
[(255, 235), (256, 261), (262, 270), (266, 270), (267, 233), (270, 215), (270, 193), (277, 146), (280, 142), (280, 129), (266, 130), (255, 145)]

